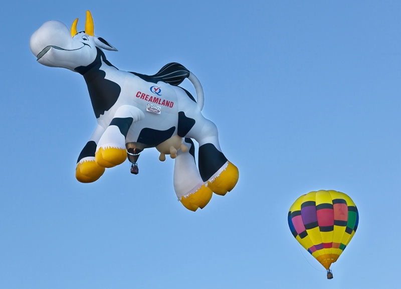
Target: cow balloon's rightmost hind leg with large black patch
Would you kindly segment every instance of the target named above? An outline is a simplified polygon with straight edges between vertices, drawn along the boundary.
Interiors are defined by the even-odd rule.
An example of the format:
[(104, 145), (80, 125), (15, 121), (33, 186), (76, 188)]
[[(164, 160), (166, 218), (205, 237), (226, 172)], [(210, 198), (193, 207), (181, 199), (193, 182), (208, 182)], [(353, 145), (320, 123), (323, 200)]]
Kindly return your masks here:
[(187, 136), (199, 143), (198, 167), (203, 181), (207, 181), (208, 187), (220, 195), (232, 190), (237, 184), (239, 172), (220, 148), (216, 124), (198, 115)]

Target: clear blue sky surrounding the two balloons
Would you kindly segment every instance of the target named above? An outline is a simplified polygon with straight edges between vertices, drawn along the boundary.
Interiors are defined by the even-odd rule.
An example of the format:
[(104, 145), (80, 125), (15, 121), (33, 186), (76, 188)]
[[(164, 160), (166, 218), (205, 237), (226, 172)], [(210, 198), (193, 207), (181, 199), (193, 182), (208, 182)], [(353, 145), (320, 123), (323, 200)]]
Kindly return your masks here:
[[(191, 212), (155, 149), (75, 179), (96, 125), (86, 84), (29, 49), (50, 19), (92, 12), (123, 70), (180, 62), (240, 179)], [(401, 221), (401, 3), (48, 1), (3, 4), (2, 288), (396, 288)], [(80, 28), (81, 27), (81, 28)], [(188, 85), (184, 83), (183, 85)], [(301, 194), (334, 189), (359, 227), (334, 278), (287, 225)]]

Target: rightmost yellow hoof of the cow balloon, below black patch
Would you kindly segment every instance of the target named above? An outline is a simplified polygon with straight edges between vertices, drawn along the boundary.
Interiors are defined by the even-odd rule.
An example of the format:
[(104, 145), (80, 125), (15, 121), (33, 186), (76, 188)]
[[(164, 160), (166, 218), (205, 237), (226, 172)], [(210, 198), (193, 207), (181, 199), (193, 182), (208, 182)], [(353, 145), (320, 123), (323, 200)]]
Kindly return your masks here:
[(218, 176), (214, 177), (212, 180), (208, 180), (208, 187), (210, 187), (214, 193), (220, 195), (225, 195), (228, 191), (232, 190), (237, 184), (240, 175), (237, 166), (230, 161), (227, 163), (227, 166)]

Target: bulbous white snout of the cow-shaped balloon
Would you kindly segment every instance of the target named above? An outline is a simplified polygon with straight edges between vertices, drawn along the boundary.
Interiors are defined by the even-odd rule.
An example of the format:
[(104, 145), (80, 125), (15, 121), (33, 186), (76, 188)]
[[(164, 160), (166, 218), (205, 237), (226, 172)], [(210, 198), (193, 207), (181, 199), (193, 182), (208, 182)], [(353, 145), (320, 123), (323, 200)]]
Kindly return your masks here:
[(29, 41), (29, 46), (35, 56), (49, 45), (68, 48), (71, 45), (71, 33), (61, 21), (50, 20), (36, 30)]

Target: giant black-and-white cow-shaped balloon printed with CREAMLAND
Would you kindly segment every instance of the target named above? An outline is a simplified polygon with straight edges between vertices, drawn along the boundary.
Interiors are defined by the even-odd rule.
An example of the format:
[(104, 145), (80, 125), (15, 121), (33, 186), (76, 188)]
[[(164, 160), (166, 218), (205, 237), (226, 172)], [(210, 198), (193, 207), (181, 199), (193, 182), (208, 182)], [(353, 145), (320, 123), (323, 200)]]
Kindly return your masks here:
[[(94, 35), (91, 13), (85, 31), (77, 32), (77, 22), (70, 31), (60, 21), (47, 21), (30, 40), (39, 63), (78, 72), (88, 86), (98, 124), (78, 157), (76, 178), (93, 182), (127, 156), (137, 173), (139, 153), (156, 147), (160, 160), (165, 154), (175, 158), (174, 189), (186, 208), (203, 208), (213, 192), (233, 189), (239, 172), (221, 151), (216, 125), (201, 113), (204, 93), (196, 76), (178, 63), (154, 75), (119, 70), (102, 50), (117, 49)], [(185, 78), (195, 87), (196, 101), (178, 86)], [(198, 169), (191, 138), (199, 144)]]

